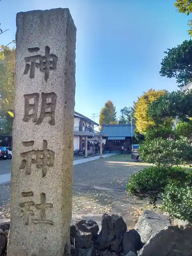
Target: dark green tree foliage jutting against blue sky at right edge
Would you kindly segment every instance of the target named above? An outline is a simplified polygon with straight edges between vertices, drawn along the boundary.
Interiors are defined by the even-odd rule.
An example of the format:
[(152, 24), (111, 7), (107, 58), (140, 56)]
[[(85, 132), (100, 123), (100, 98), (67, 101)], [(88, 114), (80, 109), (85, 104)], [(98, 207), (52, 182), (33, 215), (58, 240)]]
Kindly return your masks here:
[(192, 82), (192, 40), (164, 52), (166, 56), (161, 62), (160, 75), (175, 78), (178, 87)]

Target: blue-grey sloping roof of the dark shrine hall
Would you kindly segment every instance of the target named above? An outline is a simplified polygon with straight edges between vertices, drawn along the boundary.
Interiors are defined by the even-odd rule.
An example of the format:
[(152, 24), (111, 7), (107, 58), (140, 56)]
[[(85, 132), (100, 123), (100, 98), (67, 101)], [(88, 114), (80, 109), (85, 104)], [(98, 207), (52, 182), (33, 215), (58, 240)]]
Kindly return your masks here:
[(135, 125), (131, 124), (105, 124), (102, 125), (100, 135), (103, 137), (132, 137), (134, 136)]

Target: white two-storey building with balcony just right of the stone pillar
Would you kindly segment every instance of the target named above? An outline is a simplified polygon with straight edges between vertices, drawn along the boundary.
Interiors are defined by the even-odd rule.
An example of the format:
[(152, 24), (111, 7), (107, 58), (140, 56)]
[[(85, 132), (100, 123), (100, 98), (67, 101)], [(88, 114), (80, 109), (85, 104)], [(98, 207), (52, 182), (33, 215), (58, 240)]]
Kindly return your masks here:
[(87, 136), (88, 154), (92, 153), (92, 144), (94, 140), (95, 142), (98, 140), (97, 138), (99, 136), (99, 131), (96, 131), (95, 127), (99, 127), (99, 124), (78, 112), (74, 112), (74, 150), (83, 150), (85, 148), (85, 137)]

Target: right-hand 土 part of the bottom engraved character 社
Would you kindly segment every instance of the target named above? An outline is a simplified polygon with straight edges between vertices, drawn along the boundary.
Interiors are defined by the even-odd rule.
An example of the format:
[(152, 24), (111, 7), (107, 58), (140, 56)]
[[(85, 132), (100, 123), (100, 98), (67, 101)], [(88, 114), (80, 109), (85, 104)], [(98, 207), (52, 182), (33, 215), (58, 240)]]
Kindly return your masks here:
[(34, 224), (50, 224), (53, 225), (53, 221), (46, 219), (46, 209), (52, 208), (53, 204), (46, 203), (46, 195), (45, 193), (40, 194), (41, 197), (41, 203), (35, 204), (35, 207), (40, 210), (40, 219), (33, 219)]

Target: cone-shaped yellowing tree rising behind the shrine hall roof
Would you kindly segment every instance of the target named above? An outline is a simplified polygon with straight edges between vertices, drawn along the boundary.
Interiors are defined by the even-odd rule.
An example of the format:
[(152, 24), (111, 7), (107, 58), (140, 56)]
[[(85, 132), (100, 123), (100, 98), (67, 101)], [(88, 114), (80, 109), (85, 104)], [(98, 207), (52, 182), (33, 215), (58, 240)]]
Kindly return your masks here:
[(111, 100), (105, 102), (101, 109), (99, 124), (117, 124), (115, 106)]

